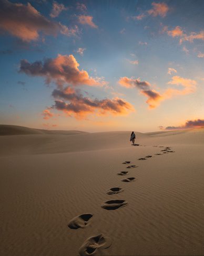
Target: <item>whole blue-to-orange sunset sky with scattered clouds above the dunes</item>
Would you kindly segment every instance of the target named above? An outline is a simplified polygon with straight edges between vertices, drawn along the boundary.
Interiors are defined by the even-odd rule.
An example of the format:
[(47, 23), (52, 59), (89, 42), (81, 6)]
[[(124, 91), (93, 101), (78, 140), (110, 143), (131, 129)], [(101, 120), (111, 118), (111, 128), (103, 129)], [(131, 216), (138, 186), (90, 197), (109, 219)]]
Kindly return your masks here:
[(1, 124), (204, 126), (204, 1), (0, 4)]

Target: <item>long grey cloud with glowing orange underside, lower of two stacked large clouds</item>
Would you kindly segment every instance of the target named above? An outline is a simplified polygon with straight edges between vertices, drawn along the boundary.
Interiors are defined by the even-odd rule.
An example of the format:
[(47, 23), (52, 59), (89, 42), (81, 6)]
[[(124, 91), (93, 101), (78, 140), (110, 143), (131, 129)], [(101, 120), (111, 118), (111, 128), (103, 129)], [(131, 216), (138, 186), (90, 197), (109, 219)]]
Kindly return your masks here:
[[(134, 108), (129, 102), (120, 98), (90, 99), (76, 92), (73, 88), (66, 87), (63, 90), (55, 89), (52, 93), (56, 99), (52, 108), (64, 111), (68, 116), (85, 118), (88, 114), (97, 112), (98, 115), (127, 115)], [(68, 101), (68, 102), (66, 102)]]

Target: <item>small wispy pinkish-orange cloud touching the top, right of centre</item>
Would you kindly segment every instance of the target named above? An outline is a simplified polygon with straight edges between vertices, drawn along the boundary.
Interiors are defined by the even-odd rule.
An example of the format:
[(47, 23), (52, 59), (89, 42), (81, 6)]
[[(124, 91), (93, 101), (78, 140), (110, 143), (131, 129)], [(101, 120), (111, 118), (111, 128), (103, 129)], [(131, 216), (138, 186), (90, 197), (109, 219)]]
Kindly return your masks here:
[(134, 18), (134, 20), (142, 20), (142, 18), (151, 15), (153, 17), (157, 17), (160, 16), (162, 18), (166, 17), (167, 12), (169, 11), (169, 7), (166, 3), (155, 3), (153, 2), (152, 4), (152, 8), (148, 11), (146, 11), (145, 13), (141, 13), (138, 16), (134, 16), (132, 18)]

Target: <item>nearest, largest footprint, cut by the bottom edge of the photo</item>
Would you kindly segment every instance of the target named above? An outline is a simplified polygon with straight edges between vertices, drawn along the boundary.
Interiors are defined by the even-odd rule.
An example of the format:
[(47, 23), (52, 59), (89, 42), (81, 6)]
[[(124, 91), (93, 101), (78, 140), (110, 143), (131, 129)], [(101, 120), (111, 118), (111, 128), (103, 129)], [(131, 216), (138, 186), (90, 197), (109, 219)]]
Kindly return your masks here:
[(110, 247), (112, 241), (108, 236), (99, 234), (88, 238), (79, 249), (80, 256), (95, 255), (99, 249)]

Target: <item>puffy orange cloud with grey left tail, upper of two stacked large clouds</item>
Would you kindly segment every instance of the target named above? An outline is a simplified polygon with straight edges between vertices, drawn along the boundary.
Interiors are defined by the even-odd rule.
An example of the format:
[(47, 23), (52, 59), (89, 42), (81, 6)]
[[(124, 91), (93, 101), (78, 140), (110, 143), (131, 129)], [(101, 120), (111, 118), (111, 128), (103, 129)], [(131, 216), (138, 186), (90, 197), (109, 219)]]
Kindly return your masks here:
[(99, 86), (102, 83), (98, 79), (89, 77), (85, 70), (79, 70), (79, 63), (73, 55), (58, 54), (55, 59), (45, 59), (29, 63), (27, 60), (21, 60), (19, 72), (33, 76), (46, 78), (46, 84), (54, 81), (58, 86), (63, 84), (72, 84), (78, 86), (86, 84), (87, 86)]

